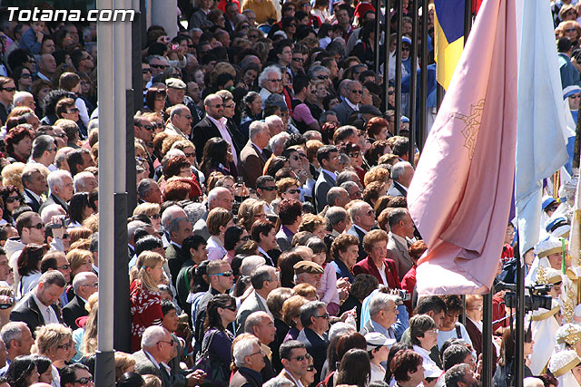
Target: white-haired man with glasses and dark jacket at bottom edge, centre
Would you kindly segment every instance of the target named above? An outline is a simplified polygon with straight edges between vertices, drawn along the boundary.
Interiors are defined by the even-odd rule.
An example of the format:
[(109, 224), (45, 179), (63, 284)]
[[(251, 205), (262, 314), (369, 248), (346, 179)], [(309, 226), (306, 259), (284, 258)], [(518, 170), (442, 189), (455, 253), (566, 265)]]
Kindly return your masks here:
[(238, 371), (232, 375), (230, 387), (260, 387), (266, 382), (261, 376), (266, 358), (256, 337), (248, 335), (236, 340), (232, 345), (232, 357)]

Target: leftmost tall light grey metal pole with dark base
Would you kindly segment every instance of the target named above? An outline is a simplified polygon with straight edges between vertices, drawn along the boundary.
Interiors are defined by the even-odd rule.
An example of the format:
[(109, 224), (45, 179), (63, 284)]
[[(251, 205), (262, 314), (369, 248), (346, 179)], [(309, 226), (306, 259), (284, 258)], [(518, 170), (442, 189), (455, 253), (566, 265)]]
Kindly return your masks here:
[[(98, 0), (98, 9), (113, 9), (113, 0)], [(95, 385), (115, 383), (113, 355), (113, 24), (97, 23), (97, 78), (99, 80), (99, 314)], [(126, 271), (126, 268), (125, 268)]]

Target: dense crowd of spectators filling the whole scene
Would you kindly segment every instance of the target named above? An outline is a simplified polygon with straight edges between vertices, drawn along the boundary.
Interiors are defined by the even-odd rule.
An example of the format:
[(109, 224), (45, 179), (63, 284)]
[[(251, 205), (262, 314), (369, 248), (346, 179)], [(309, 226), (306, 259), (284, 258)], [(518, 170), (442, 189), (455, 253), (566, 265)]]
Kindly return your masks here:
[[(130, 299), (131, 344), (114, 353), (116, 385), (478, 386), (486, 341), (495, 344), (494, 385), (514, 385), (506, 290), (494, 297), (488, 338), (480, 295), (415, 292), (427, 247), (406, 200), (419, 160), (406, 137), (406, 116), (419, 114), (409, 111), (409, 74), (419, 71), (409, 57), (419, 44), (412, 0), (379, 13), (391, 27), (379, 47), (376, 2), (178, 3), (178, 34), (149, 26), (142, 52), (137, 202), (127, 256), (115, 256), (128, 265), (115, 276), (129, 276), (129, 293), (115, 296)], [(581, 68), (570, 58), (581, 27), (575, 36), (566, 28), (576, 23), (566, 3), (553, 10), (576, 121)], [(433, 4), (427, 12), (433, 56)], [(0, 45), (0, 387), (91, 386), (95, 24), (0, 15)], [(375, 73), (375, 51), (387, 49), (389, 73)], [(430, 59), (428, 72), (434, 66)], [(430, 109), (435, 77), (428, 89)], [(570, 206), (544, 201), (547, 235), (526, 256), (528, 283), (546, 285), (553, 302), (527, 323), (518, 361), (528, 386), (581, 385), (578, 266), (563, 260), (559, 239)], [(514, 231), (508, 225), (498, 261), (504, 283), (516, 281)]]

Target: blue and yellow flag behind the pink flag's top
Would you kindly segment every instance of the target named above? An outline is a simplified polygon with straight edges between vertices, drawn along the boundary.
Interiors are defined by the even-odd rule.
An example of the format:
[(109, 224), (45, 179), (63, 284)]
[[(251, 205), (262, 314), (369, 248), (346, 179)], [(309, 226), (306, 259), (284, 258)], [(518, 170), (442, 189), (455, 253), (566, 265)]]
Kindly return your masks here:
[(437, 79), (444, 89), (448, 89), (464, 48), (464, 3), (465, 0), (434, 1)]

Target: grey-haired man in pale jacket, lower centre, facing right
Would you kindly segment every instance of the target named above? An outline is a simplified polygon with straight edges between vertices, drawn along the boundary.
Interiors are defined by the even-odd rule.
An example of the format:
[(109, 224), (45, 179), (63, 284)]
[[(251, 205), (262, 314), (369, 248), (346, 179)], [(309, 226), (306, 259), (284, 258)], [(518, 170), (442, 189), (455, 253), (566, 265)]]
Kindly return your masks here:
[(250, 314), (258, 311), (271, 314), (266, 305), (266, 299), (272, 290), (280, 286), (276, 269), (272, 266), (259, 266), (251, 274), (251, 284), (254, 291), (244, 300), (240, 308), (238, 308), (235, 324), (236, 334), (241, 334), (244, 331), (244, 324)]

